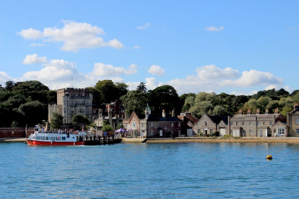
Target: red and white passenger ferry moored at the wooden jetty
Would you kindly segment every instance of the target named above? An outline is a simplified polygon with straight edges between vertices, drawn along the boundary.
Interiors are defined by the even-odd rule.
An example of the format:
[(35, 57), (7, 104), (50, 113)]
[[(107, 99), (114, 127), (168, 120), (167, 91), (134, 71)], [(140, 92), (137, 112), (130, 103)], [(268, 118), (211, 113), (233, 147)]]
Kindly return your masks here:
[(34, 127), (34, 133), (27, 139), (33, 146), (70, 146), (85, 145), (86, 132), (82, 131), (45, 131), (43, 127)]

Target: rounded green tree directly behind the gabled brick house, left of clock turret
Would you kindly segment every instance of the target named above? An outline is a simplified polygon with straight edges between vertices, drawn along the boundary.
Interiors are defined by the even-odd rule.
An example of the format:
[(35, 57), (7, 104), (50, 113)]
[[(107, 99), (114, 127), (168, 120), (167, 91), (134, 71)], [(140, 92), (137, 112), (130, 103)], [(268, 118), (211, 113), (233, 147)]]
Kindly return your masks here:
[(126, 95), (121, 97), (121, 103), (127, 114), (133, 111), (137, 114), (143, 114), (146, 107), (147, 95), (139, 90), (130, 90)]

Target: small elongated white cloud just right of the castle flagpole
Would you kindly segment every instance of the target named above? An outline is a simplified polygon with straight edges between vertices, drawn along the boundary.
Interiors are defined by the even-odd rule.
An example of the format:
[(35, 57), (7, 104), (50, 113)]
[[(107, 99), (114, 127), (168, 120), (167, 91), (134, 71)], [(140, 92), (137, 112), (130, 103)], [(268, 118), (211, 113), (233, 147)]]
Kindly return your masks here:
[(137, 73), (137, 65), (131, 64), (128, 68), (114, 67), (110, 64), (95, 63), (92, 76), (120, 76), (120, 75), (131, 75)]

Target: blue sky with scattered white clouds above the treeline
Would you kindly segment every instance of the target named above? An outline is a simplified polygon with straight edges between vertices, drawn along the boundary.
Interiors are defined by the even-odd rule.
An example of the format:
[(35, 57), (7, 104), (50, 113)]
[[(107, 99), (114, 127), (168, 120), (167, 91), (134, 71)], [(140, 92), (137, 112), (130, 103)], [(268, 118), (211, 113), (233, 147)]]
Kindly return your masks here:
[(0, 84), (99, 80), (179, 94), (299, 89), (298, 1), (6, 1)]

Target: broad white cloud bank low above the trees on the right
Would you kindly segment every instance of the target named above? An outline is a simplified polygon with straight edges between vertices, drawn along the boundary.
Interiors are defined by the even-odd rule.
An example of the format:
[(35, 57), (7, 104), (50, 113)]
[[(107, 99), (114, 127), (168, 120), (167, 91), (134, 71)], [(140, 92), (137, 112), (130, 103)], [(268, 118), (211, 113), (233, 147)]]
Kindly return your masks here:
[[(282, 86), (282, 78), (274, 76), (269, 72), (244, 71), (242, 76), (233, 68), (224, 69), (214, 65), (198, 67), (196, 75), (186, 76), (185, 78), (176, 78), (163, 84), (173, 86), (178, 93), (188, 93), (206, 90), (221, 90), (226, 87), (254, 87), (275, 84)], [(240, 77), (239, 77), (240, 76)], [(255, 90), (253, 91), (255, 92)]]

